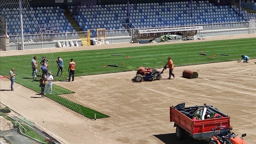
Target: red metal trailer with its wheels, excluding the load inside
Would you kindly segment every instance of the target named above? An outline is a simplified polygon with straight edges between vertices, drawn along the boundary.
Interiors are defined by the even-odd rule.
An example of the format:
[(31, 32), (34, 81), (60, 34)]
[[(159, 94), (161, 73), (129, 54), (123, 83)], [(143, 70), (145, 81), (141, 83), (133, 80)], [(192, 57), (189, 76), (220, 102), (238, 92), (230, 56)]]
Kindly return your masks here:
[(170, 122), (174, 122), (176, 127), (176, 136), (178, 139), (183, 139), (185, 131), (191, 137), (199, 140), (208, 140), (214, 135), (211, 128), (228, 126), (230, 127), (230, 117), (214, 118), (193, 121), (183, 113), (173, 107), (170, 107)]

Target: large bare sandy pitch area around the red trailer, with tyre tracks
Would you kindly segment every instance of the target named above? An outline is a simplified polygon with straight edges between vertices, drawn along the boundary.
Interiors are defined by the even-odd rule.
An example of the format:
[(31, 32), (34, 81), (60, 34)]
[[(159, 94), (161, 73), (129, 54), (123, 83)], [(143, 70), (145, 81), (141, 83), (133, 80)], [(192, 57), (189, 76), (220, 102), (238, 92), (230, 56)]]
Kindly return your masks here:
[[(224, 62), (174, 68), (175, 79), (132, 83), (136, 72), (75, 77), (74, 82), (55, 82), (72, 89), (61, 95), (100, 111), (110, 118), (87, 119), (52, 100), (30, 98), (36, 93), (19, 84), (9, 89), (10, 80), (0, 79), (1, 103), (47, 129), (64, 143), (172, 143), (208, 144), (189, 138), (177, 140), (169, 107), (214, 105), (231, 116), (233, 132), (256, 143), (256, 68), (250, 63)], [(185, 69), (197, 71), (198, 79), (182, 78)], [(168, 71), (163, 78), (168, 77)]]

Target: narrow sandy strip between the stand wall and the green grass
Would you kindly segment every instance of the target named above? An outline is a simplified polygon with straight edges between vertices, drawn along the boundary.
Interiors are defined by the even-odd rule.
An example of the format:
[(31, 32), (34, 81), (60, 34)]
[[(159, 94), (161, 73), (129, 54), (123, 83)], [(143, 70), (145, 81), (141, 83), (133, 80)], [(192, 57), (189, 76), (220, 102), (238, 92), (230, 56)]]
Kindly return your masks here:
[(202, 40), (193, 40), (193, 41), (173, 41), (173, 42), (150, 43), (150, 44), (123, 43), (123, 44), (96, 45), (96, 46), (90, 46), (90, 47), (64, 47), (64, 48), (51, 48), (51, 49), (48, 49), (48, 48), (26, 49), (23, 51), (22, 50), (0, 51), (0, 57), (12, 56), (12, 55), (29, 55), (29, 54), (51, 53), (51, 52), (70, 52), (70, 51), (92, 50), (92, 49), (112, 49), (112, 48), (120, 48), (120, 47), (140, 47), (140, 46), (152, 46), (152, 45), (162, 45), (162, 44), (179, 44), (179, 43), (216, 41), (216, 40), (225, 40), (225, 39), (244, 39), (244, 38), (256, 38), (256, 33), (233, 35), (233, 36), (205, 37)]

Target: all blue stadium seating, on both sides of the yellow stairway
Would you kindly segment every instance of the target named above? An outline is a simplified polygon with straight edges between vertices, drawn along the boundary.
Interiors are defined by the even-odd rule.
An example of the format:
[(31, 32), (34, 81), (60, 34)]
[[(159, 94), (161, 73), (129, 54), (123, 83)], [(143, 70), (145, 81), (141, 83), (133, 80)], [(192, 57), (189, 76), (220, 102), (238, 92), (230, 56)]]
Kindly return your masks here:
[[(129, 28), (155, 28), (184, 25), (213, 24), (213, 27), (225, 27), (231, 22), (245, 22), (254, 19), (255, 14), (241, 11), (238, 15), (236, 6), (214, 6), (209, 1), (193, 1), (193, 14), (190, 14), (190, 2), (165, 2), (130, 4), (130, 22), (127, 22), (127, 4), (96, 5), (95, 9), (83, 6), (73, 18), (83, 31), (91, 30), (90, 35), (97, 35), (97, 28), (106, 28), (106, 34), (127, 34)], [(68, 11), (73, 13), (73, 6)], [(47, 38), (78, 36), (72, 24), (64, 15), (65, 10), (59, 7), (34, 7), (23, 9), (23, 31), (26, 34), (46, 33)], [(20, 35), (19, 10), (1, 9), (1, 14), (7, 21), (8, 35)], [(233, 23), (232, 26), (248, 25), (248, 23)], [(211, 28), (212, 25), (203, 25)], [(117, 30), (117, 31), (116, 31)], [(24, 39), (39, 38), (25, 36)], [(12, 37), (11, 39), (15, 39)], [(20, 37), (18, 37), (20, 39)]]

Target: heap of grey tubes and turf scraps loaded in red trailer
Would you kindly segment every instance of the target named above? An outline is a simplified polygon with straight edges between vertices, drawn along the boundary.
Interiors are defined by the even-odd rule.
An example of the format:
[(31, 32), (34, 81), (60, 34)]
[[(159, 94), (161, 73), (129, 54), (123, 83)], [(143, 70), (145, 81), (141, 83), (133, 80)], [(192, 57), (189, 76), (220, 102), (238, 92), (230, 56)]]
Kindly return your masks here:
[(228, 115), (222, 113), (217, 108), (213, 108), (213, 105), (196, 105), (185, 108), (185, 103), (180, 103), (176, 105), (176, 110), (183, 113), (185, 116), (189, 117), (193, 121), (204, 120), (204, 119), (215, 119), (227, 117)]

